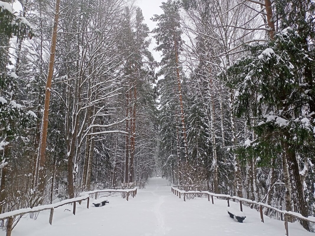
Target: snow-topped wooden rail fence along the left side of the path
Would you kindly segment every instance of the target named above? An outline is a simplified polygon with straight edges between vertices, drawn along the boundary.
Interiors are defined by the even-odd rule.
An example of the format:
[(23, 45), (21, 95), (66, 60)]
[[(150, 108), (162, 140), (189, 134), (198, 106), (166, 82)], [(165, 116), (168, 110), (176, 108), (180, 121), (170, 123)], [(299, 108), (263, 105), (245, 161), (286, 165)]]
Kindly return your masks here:
[(60, 201), (58, 203), (40, 205), (40, 206), (35, 206), (33, 208), (30, 208), (30, 207), (22, 208), (22, 209), (18, 209), (15, 211), (8, 211), (5, 213), (2, 213), (2, 214), (0, 214), (0, 221), (8, 219), (6, 236), (11, 236), (12, 225), (13, 225), (13, 221), (14, 221), (15, 216), (25, 215), (25, 214), (39, 212), (39, 211), (50, 210), (49, 223), (51, 224), (53, 221), (54, 208), (73, 203), (73, 215), (75, 215), (76, 214), (76, 202), (79, 202), (79, 204), (81, 205), (81, 202), (83, 200), (88, 200), (86, 207), (89, 209), (90, 194), (92, 194), (92, 198), (93, 198), (93, 194), (95, 194), (95, 199), (97, 199), (98, 193), (111, 193), (111, 192), (126, 193), (126, 199), (128, 201), (130, 193), (132, 193), (132, 197), (135, 197), (135, 195), (137, 194), (137, 187), (131, 188), (131, 189), (101, 189), (101, 190), (83, 192), (83, 193), (80, 193), (79, 197), (77, 197), (77, 198), (66, 199), (66, 200)]

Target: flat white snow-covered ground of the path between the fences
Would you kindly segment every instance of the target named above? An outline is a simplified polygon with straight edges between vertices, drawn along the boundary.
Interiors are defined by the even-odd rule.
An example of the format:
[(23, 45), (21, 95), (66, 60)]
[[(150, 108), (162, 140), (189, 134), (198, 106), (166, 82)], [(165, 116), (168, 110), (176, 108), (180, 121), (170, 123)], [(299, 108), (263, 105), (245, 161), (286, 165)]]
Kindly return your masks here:
[[(100, 198), (105, 199), (104, 197)], [(119, 196), (107, 197), (110, 202), (102, 207), (86, 208), (86, 201), (77, 204), (76, 215), (72, 206), (54, 210), (52, 225), (49, 211), (39, 213), (34, 221), (28, 216), (21, 219), (12, 236), (284, 236), (284, 222), (264, 216), (243, 206), (246, 219), (238, 223), (229, 217), (226, 201), (215, 199), (215, 205), (206, 198), (183, 201), (171, 192), (167, 180), (150, 179), (146, 189), (139, 189), (135, 198), (127, 202)], [(65, 211), (69, 209), (70, 211)], [(5, 231), (0, 232), (4, 236)], [(289, 223), (290, 236), (314, 236), (298, 222)]]

